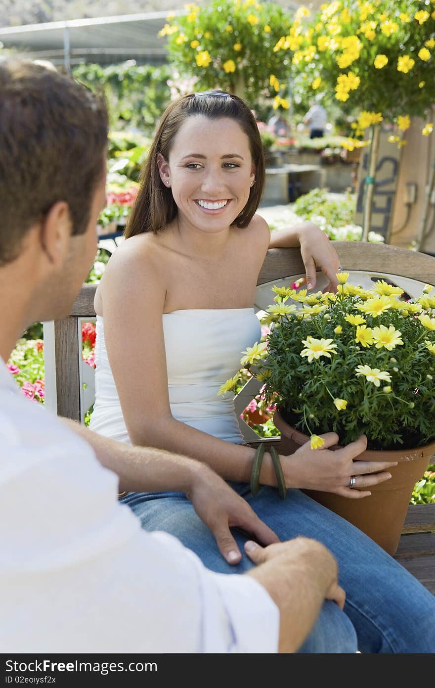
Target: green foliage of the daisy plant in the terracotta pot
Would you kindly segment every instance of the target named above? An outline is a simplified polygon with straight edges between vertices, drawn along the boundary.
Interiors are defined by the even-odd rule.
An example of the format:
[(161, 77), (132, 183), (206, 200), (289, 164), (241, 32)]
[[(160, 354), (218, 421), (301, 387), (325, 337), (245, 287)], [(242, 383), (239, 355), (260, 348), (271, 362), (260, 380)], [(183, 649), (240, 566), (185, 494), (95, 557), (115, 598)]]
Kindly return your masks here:
[[(400, 303), (388, 294), (388, 286), (375, 286), (379, 291), (366, 292), (351, 285), (341, 286), (335, 300), (322, 292), (304, 297), (288, 290), (289, 296), (278, 296), (278, 304), (287, 299), (304, 303), (308, 310), (295, 310), (286, 315), (269, 316), (275, 325), (268, 337), (267, 361), (260, 363), (267, 370), (266, 398), (278, 393), (279, 403), (291, 424), (312, 435), (335, 431), (339, 442), (348, 444), (362, 433), (368, 437), (369, 449), (405, 449), (420, 447), (435, 438), (435, 319), (426, 325), (419, 317), (422, 305), (432, 316), (435, 299), (421, 297), (421, 303), (412, 307)], [(372, 307), (368, 299), (389, 299), (393, 305), (375, 316), (361, 312)], [(317, 314), (309, 304), (320, 310)], [(370, 308), (369, 308), (370, 306)], [(414, 308), (414, 313), (412, 313)], [(364, 346), (357, 341), (356, 325), (345, 320), (348, 315), (364, 316), (363, 327), (372, 328), (375, 341)], [(392, 325), (403, 342), (377, 347), (377, 332), (373, 328)], [(335, 332), (341, 327), (341, 332)], [(370, 332), (369, 332), (370, 334)], [(316, 348), (317, 342), (328, 340), (335, 345), (330, 356), (320, 354), (309, 359), (302, 356), (307, 347)], [(366, 365), (381, 371), (377, 383), (364, 374), (357, 375), (357, 366)], [(337, 409), (334, 400), (344, 400), (345, 408)]]

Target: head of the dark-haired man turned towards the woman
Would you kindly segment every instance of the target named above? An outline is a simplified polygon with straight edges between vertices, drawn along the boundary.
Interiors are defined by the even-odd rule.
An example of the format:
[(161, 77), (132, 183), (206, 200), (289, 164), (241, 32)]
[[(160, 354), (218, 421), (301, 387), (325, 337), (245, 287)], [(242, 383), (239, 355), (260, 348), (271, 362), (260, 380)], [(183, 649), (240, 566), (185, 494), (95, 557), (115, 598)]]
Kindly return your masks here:
[(107, 128), (104, 101), (71, 78), (0, 62), (0, 285), (23, 277), (33, 321), (67, 314), (91, 268)]

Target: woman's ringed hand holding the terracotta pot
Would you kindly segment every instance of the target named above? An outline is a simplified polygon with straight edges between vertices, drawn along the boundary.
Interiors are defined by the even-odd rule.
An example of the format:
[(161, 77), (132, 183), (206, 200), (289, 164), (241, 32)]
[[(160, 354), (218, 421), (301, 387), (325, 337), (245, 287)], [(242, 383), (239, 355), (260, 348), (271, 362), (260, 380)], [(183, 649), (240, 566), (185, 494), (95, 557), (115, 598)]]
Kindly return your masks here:
[[(335, 451), (328, 447), (337, 444), (337, 433), (326, 433), (320, 437), (324, 440), (324, 445), (320, 449), (311, 449), (310, 443), (306, 442), (291, 456), (280, 457), (287, 487), (319, 490), (350, 499), (361, 499), (371, 495), (368, 488), (390, 480), (391, 473), (388, 473), (388, 469), (397, 466), (395, 461), (358, 460), (358, 456), (367, 447), (365, 435)], [(355, 477), (352, 488), (351, 477)]]

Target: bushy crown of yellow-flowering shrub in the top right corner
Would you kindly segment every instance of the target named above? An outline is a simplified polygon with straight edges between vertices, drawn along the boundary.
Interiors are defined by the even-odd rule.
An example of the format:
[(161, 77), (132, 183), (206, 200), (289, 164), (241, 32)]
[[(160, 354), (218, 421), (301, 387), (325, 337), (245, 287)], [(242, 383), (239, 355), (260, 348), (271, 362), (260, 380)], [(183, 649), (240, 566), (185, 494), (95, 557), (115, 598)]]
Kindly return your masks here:
[[(416, 18), (417, 12), (425, 14)], [(433, 3), (342, 0), (322, 5), (319, 12), (298, 17), (289, 36), (295, 50), (295, 96), (311, 100), (324, 94), (344, 112), (376, 111), (388, 120), (423, 116), (434, 100), (434, 36)], [(422, 48), (428, 52), (421, 53)], [(285, 55), (285, 47), (278, 54)], [(388, 62), (381, 66), (381, 57), (375, 66), (377, 56)], [(350, 88), (346, 75), (353, 79)]]

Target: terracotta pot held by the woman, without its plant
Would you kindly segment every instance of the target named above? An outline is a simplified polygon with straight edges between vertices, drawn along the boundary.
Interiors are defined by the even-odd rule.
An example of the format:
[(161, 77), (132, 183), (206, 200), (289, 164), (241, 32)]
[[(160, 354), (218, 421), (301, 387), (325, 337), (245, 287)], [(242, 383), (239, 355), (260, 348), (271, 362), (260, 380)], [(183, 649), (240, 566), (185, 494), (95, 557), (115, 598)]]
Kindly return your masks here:
[[(309, 437), (291, 427), (281, 416), (274, 413), (274, 424), (281, 433), (280, 453), (292, 454)], [(304, 490), (304, 492), (331, 511), (357, 526), (375, 540), (388, 554), (394, 555), (405, 522), (408, 504), (414, 485), (427, 469), (435, 454), (435, 442), (418, 449), (395, 451), (366, 450), (357, 457), (359, 461), (397, 461), (388, 469), (392, 477), (370, 488), (370, 497), (348, 499), (328, 492)]]

